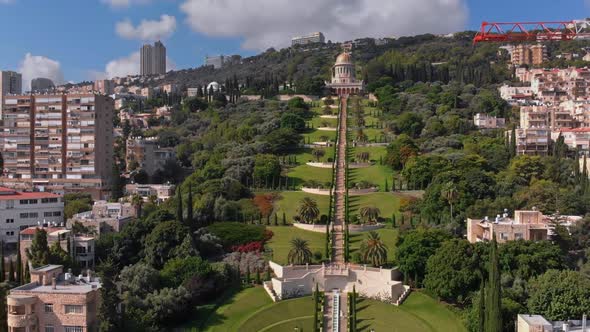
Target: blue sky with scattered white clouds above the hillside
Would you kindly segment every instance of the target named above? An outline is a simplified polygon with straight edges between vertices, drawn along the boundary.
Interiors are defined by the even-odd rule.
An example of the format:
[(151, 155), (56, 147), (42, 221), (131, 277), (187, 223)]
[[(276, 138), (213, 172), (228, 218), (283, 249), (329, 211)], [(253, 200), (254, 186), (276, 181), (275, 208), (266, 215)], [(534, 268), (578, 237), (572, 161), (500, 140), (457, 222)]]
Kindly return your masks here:
[[(590, 6), (584, 0), (365, 0), (359, 8), (360, 3), (0, 0), (0, 69), (81, 81), (136, 70), (133, 53), (156, 36), (164, 37), (168, 57), (176, 68), (187, 68), (200, 66), (207, 54), (256, 54), (269, 46), (286, 46), (292, 35), (314, 30), (326, 32), (328, 39), (342, 40), (477, 29), (482, 20), (590, 16)], [(162, 15), (168, 15), (173, 26), (169, 20), (168, 26), (163, 26)], [(153, 22), (140, 26), (142, 20)], [(122, 22), (127, 22), (126, 33), (117, 32), (117, 24)], [(27, 54), (30, 57), (26, 58)]]

